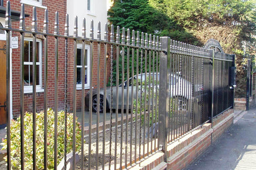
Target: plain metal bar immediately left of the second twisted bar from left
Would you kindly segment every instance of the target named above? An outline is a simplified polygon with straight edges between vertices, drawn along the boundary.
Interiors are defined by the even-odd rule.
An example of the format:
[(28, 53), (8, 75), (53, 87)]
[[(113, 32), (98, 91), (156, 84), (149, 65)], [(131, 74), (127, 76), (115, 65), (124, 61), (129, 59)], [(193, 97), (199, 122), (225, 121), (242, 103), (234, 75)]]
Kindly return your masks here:
[(103, 80), (103, 86), (104, 86), (104, 97), (103, 97), (103, 134), (102, 134), (102, 169), (105, 169), (105, 129), (106, 129), (106, 96), (107, 96), (107, 92), (106, 92), (106, 86), (107, 86), (107, 39), (108, 39), (108, 24), (105, 24), (105, 31), (104, 31), (104, 80)]

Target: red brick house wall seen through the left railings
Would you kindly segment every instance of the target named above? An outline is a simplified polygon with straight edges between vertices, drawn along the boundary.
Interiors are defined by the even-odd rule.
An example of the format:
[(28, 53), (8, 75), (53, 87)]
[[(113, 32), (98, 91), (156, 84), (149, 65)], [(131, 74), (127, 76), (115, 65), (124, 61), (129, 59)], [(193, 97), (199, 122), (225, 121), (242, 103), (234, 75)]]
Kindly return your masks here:
[[(49, 12), (49, 33), (53, 33), (54, 31), (54, 21), (55, 21), (55, 12), (59, 12), (59, 32), (60, 35), (64, 34), (65, 30), (65, 18), (66, 18), (66, 0), (57, 0), (57, 1), (50, 1), (44, 0), (42, 2), (43, 6), (47, 6), (47, 10)], [(6, 1), (4, 1), (4, 6), (6, 6)], [(20, 11), (21, 4), (20, 0), (11, 1), (11, 9)], [(36, 7), (37, 12), (37, 29), (38, 32), (43, 31), (43, 23), (44, 23), (44, 8)], [(31, 22), (33, 18), (33, 6), (25, 4), (25, 13), (29, 14), (30, 16), (25, 19), (26, 30), (31, 29)], [(81, 20), (82, 19), (78, 19)], [(74, 23), (69, 23), (74, 25)], [(12, 28), (19, 28), (19, 21), (12, 22)], [(78, 28), (82, 29), (82, 28)], [(96, 30), (97, 31), (97, 30)], [(73, 35), (73, 32), (69, 33)], [(20, 37), (19, 32), (12, 32), (12, 36)], [(26, 34), (26, 37), (31, 37), (31, 35)], [(42, 40), (42, 53), (44, 53), (44, 40), (42, 35), (38, 35), (37, 39)], [(47, 45), (47, 53), (48, 53), (48, 80), (47, 80), (47, 98), (48, 98), (48, 107), (54, 108), (54, 84), (55, 84), (55, 66), (54, 66), (54, 55), (55, 55), (55, 38), (49, 37), (48, 45)], [(19, 41), (20, 43), (20, 41)], [(20, 46), (20, 45), (19, 45)], [(73, 109), (73, 88), (74, 88), (74, 40), (68, 40), (68, 109), (72, 111)], [(97, 43), (94, 43), (93, 49), (95, 52), (93, 53), (93, 76), (92, 76), (92, 84), (93, 87), (97, 87)], [(108, 50), (110, 47), (108, 47)], [(58, 110), (64, 109), (64, 80), (65, 80), (65, 39), (59, 38), (59, 69), (58, 69)], [(100, 64), (100, 86), (103, 87), (103, 73), (104, 73), (104, 45), (101, 44), (101, 64)], [(44, 54), (42, 54), (42, 79), (44, 78), (44, 70), (43, 70), (43, 60)], [(107, 75), (110, 75), (110, 60), (107, 61)], [(13, 108), (13, 118), (16, 118), (20, 115), (20, 49), (13, 49), (12, 50), (12, 108)], [(43, 80), (42, 80), (43, 82)], [(44, 84), (42, 84), (44, 87)], [(88, 89), (89, 90), (89, 89)], [(85, 90), (85, 95), (88, 90)], [(81, 97), (82, 97), (82, 90), (77, 90), (77, 109), (81, 109)], [(44, 106), (44, 92), (37, 92), (36, 94), (36, 108), (37, 112), (40, 112)], [(33, 105), (33, 96), (32, 93), (25, 94), (24, 96), (24, 106), (25, 111), (31, 112)]]

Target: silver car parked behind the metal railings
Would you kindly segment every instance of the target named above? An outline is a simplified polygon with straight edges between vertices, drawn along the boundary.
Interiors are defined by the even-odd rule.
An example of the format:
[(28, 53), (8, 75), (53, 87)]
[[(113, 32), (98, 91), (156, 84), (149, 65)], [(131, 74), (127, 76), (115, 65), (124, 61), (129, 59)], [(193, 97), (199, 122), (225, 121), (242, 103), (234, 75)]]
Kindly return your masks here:
[[(138, 82), (143, 82), (145, 81), (145, 73), (139, 74), (138, 75), (138, 79), (137, 79), (137, 75), (135, 75), (133, 77), (133, 99), (137, 96), (137, 92), (138, 92), (138, 98), (140, 98), (140, 89), (141, 86), (139, 85), (138, 87), (136, 86), (135, 80)], [(142, 80), (141, 80), (142, 78)], [(151, 91), (156, 91), (156, 89), (158, 89), (159, 87), (159, 73), (151, 73), (151, 80), (153, 80), (153, 78), (155, 80), (158, 81), (158, 83), (156, 83), (156, 81), (154, 81), (154, 83), (151, 83), (150, 87), (151, 87)], [(147, 80), (149, 80), (149, 73), (147, 73)], [(140, 83), (139, 83), (140, 84)], [(123, 87), (122, 87), (123, 85)], [(153, 87), (154, 85), (154, 87)], [(192, 84), (181, 78), (180, 75), (176, 75), (176, 74), (171, 74), (170, 77), (170, 88), (169, 88), (169, 96), (171, 98), (175, 99), (175, 104), (178, 105), (178, 109), (186, 109), (188, 103), (191, 101), (191, 99), (194, 99), (195, 94), (198, 94), (199, 91), (202, 90), (201, 85), (195, 85), (194, 86), (194, 95), (192, 96)], [(129, 97), (127, 97), (127, 88), (129, 88)], [(122, 90), (123, 89), (123, 90)], [(113, 94), (113, 103), (112, 103), (112, 108), (116, 109), (116, 98), (117, 98), (117, 90), (118, 90), (118, 109), (123, 108), (126, 109), (126, 104), (127, 104), (127, 99), (128, 104), (129, 104), (129, 109), (131, 108), (132, 105), (132, 78), (129, 79), (129, 84), (127, 84), (127, 80), (124, 81), (124, 83), (119, 84), (118, 88), (116, 87), (112, 87), (112, 94)], [(142, 86), (142, 90), (143, 90), (143, 86)], [(122, 101), (122, 91), (123, 91), (123, 95), (124, 95), (124, 100)], [(93, 89), (92, 91), (92, 111), (93, 112), (97, 112), (97, 93), (98, 90), (97, 89)], [(100, 103), (99, 103), (99, 112), (103, 112), (103, 96), (104, 96), (104, 89), (100, 89), (99, 90), (99, 94), (100, 94)], [(199, 93), (200, 94), (200, 93)], [(90, 99), (90, 93), (88, 92), (86, 97), (85, 97), (85, 105), (87, 108), (89, 108), (89, 100)], [(107, 87), (106, 88), (106, 110), (108, 110), (111, 106), (110, 105), (111, 102), (111, 88)]]

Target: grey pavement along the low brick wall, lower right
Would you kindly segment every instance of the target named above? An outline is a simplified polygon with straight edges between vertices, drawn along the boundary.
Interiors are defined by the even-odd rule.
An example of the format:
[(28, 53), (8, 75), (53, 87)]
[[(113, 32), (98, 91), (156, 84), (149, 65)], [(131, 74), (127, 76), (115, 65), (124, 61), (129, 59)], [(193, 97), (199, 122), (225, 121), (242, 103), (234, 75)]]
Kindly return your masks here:
[(256, 169), (256, 107), (235, 111), (234, 124), (183, 170)]

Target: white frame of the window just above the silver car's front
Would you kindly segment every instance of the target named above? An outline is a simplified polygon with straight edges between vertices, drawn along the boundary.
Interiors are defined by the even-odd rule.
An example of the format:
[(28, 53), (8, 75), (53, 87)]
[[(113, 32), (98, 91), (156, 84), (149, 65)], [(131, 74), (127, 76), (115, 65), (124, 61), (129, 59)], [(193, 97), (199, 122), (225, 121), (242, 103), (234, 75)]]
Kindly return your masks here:
[[(82, 44), (77, 44), (77, 49), (82, 49)], [(87, 50), (87, 65), (84, 67), (87, 68), (87, 83), (84, 84), (84, 89), (90, 89), (90, 45), (85, 44), (84, 46), (85, 50)], [(82, 54), (82, 53), (81, 53)], [(77, 66), (77, 68), (82, 68), (81, 65)], [(76, 89), (77, 90), (82, 90), (82, 83), (81, 84), (76, 84)]]

